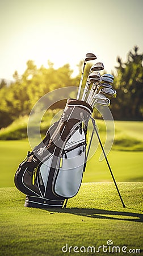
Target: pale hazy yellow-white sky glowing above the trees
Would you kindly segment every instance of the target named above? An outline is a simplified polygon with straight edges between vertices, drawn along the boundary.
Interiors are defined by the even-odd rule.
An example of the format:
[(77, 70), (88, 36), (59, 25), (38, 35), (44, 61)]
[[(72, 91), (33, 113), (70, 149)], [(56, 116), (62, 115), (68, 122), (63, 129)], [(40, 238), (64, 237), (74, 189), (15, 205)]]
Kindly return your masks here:
[(143, 52), (142, 0), (1, 0), (0, 10), (0, 79), (22, 75), (28, 60), (69, 63), (75, 76), (87, 52), (110, 73), (117, 56)]

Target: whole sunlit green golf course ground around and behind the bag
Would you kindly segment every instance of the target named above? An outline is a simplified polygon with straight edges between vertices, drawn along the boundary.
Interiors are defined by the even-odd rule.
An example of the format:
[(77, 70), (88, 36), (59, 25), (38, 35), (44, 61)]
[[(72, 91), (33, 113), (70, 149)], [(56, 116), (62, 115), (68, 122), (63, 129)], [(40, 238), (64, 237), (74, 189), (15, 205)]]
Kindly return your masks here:
[(24, 207), (25, 195), (14, 186), (16, 169), (31, 150), (28, 140), (1, 140), (0, 255), (143, 255), (142, 143), (142, 122), (115, 121), (108, 161), (125, 208), (98, 145), (67, 207), (35, 209)]

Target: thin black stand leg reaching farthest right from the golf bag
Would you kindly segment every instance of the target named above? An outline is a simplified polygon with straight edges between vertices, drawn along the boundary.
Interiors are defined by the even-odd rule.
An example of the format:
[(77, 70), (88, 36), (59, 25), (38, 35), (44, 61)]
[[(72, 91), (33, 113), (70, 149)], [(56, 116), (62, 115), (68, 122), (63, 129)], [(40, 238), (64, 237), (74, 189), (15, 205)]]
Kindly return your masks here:
[(100, 137), (99, 137), (99, 134), (98, 134), (98, 130), (96, 129), (95, 119), (91, 117), (91, 120), (92, 120), (92, 125), (94, 126), (95, 133), (96, 133), (96, 135), (97, 135), (97, 137), (98, 137), (98, 140), (99, 140), (100, 146), (101, 146), (101, 148), (102, 148), (102, 151), (103, 151), (104, 157), (105, 157), (105, 159), (106, 159), (106, 163), (107, 163), (108, 168), (109, 168), (109, 170), (110, 170), (110, 173), (111, 173), (111, 176), (112, 176), (113, 182), (114, 182), (115, 187), (116, 187), (116, 189), (117, 189), (117, 193), (119, 194), (119, 197), (120, 197), (121, 203), (123, 204), (123, 207), (125, 208), (125, 204), (124, 204), (124, 202), (123, 202), (123, 199), (122, 199), (122, 197), (121, 197), (121, 194), (120, 194), (119, 188), (117, 187), (117, 184), (116, 184), (115, 177), (113, 176), (113, 173), (112, 173), (112, 170), (111, 170), (110, 164), (109, 164), (109, 162), (108, 162), (108, 159), (107, 159), (107, 156), (106, 156), (106, 152), (104, 151), (104, 148), (103, 148), (102, 142), (101, 142), (101, 140), (100, 140)]

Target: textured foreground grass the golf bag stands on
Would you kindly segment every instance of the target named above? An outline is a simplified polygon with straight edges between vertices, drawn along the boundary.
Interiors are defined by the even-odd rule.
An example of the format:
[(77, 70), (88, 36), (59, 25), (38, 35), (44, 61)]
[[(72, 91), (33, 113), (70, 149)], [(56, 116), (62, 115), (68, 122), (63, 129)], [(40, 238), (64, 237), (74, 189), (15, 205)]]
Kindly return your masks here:
[[(119, 183), (123, 208), (113, 183), (83, 183), (66, 209), (24, 208), (16, 188), (1, 188), (1, 251), (5, 256), (61, 256), (68, 246), (113, 246), (142, 250), (142, 183)], [(112, 246), (107, 246), (112, 249)], [(83, 249), (83, 247), (82, 247)], [(78, 255), (96, 253), (78, 253)], [(99, 255), (104, 255), (100, 249)], [(107, 252), (106, 255), (112, 255)], [(115, 254), (124, 255), (124, 253)], [(129, 255), (142, 255), (132, 254)]]

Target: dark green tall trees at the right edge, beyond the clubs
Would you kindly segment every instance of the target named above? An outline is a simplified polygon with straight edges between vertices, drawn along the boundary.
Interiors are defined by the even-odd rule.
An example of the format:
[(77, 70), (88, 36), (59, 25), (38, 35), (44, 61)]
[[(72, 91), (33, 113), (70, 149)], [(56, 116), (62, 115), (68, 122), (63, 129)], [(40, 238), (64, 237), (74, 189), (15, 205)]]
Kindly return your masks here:
[(117, 74), (115, 77), (115, 89), (117, 98), (112, 106), (115, 119), (142, 120), (143, 117), (143, 53), (138, 53), (138, 47), (134, 46), (127, 55), (127, 61), (123, 63), (117, 57)]

